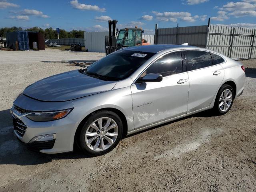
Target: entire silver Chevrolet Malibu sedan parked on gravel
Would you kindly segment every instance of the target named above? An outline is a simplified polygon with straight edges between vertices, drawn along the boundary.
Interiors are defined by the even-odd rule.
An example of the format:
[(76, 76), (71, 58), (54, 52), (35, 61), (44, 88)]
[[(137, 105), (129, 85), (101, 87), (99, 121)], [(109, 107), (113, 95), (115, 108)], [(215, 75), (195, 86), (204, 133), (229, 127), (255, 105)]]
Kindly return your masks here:
[(244, 79), (242, 64), (204, 48), (124, 48), (28, 86), (11, 109), (14, 133), (42, 153), (78, 146), (102, 155), (123, 136), (159, 124), (208, 109), (226, 114)]

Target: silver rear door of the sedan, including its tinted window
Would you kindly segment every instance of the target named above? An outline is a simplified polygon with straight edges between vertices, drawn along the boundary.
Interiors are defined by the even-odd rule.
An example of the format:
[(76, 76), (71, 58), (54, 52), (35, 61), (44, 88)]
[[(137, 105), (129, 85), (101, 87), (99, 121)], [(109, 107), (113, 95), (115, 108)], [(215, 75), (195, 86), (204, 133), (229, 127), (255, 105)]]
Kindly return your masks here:
[(224, 78), (220, 64), (212, 62), (210, 52), (186, 50), (189, 78), (188, 113), (210, 106)]

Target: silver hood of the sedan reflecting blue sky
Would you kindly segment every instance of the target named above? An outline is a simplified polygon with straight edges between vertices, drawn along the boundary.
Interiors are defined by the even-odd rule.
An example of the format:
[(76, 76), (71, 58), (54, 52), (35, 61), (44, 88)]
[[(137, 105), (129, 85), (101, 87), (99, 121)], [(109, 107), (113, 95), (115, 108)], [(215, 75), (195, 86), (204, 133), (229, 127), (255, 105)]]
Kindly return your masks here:
[(74, 70), (35, 82), (23, 94), (41, 101), (60, 102), (105, 92), (114, 88), (115, 84)]

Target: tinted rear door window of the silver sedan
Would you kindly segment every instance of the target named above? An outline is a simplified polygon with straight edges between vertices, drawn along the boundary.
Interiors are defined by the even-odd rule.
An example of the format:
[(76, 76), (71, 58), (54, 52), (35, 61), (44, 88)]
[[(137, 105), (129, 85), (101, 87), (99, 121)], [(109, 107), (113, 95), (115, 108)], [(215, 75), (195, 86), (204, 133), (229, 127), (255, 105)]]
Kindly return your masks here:
[(208, 66), (212, 66), (212, 57), (209, 52), (189, 50), (186, 51), (186, 60), (189, 70), (196, 70)]

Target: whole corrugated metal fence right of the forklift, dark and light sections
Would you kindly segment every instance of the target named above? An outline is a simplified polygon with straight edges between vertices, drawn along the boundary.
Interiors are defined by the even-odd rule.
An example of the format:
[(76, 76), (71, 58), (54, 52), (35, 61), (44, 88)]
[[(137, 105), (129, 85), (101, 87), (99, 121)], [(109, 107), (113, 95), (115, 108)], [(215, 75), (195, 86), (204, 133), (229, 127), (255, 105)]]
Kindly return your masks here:
[(159, 28), (155, 44), (188, 43), (239, 60), (256, 58), (255, 34), (254, 28), (216, 25)]

